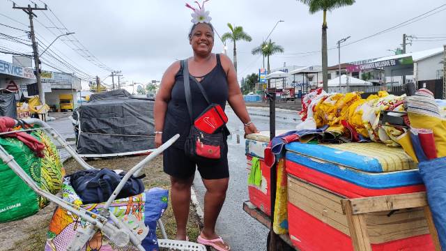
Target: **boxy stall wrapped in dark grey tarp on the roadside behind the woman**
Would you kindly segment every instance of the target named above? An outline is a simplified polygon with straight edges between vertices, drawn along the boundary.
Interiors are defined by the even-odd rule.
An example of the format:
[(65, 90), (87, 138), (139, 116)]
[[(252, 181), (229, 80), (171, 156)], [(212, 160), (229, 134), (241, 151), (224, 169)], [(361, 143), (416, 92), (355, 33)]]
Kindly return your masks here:
[(77, 153), (106, 157), (154, 149), (153, 104), (122, 89), (93, 94), (73, 112)]

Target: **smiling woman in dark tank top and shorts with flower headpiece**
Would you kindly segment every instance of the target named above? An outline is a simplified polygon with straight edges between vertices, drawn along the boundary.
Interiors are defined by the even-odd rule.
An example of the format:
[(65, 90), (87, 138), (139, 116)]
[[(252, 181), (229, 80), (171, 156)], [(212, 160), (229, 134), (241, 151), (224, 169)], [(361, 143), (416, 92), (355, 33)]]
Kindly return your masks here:
[[(198, 23), (189, 33), (194, 56), (187, 59), (190, 72), (193, 116), (197, 118), (208, 103), (197, 82), (205, 89), (210, 102), (221, 105), (226, 101), (244, 124), (245, 135), (258, 132), (249, 119), (243, 95), (237, 82), (231, 60), (223, 54), (213, 54), (214, 31), (210, 23)], [(196, 82), (197, 81), (197, 82)], [(206, 187), (204, 196), (204, 227), (198, 242), (213, 245), (217, 250), (229, 250), (229, 245), (215, 233), (215, 222), (226, 197), (229, 182), (227, 144), (219, 160), (195, 162), (184, 152), (185, 137), (190, 131), (190, 118), (185, 101), (183, 68), (180, 61), (173, 63), (162, 77), (155, 98), (155, 145), (160, 146), (176, 133), (180, 138), (164, 151), (164, 172), (171, 176), (171, 203), (177, 225), (176, 239), (186, 240), (186, 224), (190, 206), (190, 187), (194, 180), (195, 165)]]

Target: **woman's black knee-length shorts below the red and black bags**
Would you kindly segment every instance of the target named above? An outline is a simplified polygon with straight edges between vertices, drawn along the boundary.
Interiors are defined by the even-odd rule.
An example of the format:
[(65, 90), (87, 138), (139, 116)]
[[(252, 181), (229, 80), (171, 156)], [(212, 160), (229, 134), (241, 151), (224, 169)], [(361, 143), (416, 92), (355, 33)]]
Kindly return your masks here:
[(222, 158), (195, 160), (185, 155), (184, 149), (171, 146), (162, 153), (164, 172), (175, 178), (190, 178), (197, 166), (201, 178), (229, 178), (228, 144), (224, 143)]

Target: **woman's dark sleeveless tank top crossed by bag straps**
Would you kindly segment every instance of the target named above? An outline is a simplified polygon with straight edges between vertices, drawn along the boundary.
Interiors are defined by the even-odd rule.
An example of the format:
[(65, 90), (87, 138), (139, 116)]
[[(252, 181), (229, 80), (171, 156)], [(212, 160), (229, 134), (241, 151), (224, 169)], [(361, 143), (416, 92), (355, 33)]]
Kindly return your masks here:
[[(216, 56), (217, 66), (201, 78), (200, 84), (208, 94), (209, 101), (220, 105), (224, 109), (229, 96), (228, 82), (220, 61), (220, 54), (216, 54)], [(171, 99), (167, 105), (162, 131), (162, 142), (166, 142), (177, 133), (180, 134), (180, 138), (174, 143), (174, 146), (180, 149), (184, 149), (185, 139), (189, 135), (191, 125), (183, 80), (183, 67), (180, 67), (180, 70), (175, 75), (175, 84), (171, 91)], [(208, 103), (197, 86), (197, 79), (189, 75), (189, 82), (192, 94), (192, 115), (195, 119), (208, 107)]]

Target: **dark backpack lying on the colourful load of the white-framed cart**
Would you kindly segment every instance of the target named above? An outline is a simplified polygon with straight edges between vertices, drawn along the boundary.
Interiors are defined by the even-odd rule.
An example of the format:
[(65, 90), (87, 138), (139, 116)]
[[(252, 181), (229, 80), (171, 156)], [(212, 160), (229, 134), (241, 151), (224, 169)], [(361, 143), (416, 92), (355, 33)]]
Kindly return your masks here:
[[(116, 174), (116, 172), (104, 168), (77, 171), (69, 177), (71, 186), (82, 199), (82, 203), (94, 204), (107, 201), (124, 176), (125, 172)], [(144, 184), (141, 178), (145, 176), (145, 174), (138, 177), (131, 176), (116, 199), (139, 195), (144, 192)]]

